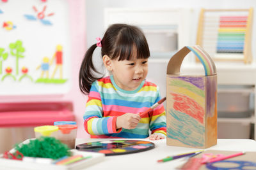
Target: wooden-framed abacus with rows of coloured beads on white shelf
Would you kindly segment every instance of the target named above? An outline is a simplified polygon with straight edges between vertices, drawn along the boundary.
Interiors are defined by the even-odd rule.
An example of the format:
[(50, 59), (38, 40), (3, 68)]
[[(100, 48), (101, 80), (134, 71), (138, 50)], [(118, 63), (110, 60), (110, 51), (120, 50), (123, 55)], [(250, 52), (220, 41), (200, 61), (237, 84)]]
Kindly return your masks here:
[(214, 60), (252, 62), (252, 15), (252, 8), (202, 9), (196, 44), (202, 46)]

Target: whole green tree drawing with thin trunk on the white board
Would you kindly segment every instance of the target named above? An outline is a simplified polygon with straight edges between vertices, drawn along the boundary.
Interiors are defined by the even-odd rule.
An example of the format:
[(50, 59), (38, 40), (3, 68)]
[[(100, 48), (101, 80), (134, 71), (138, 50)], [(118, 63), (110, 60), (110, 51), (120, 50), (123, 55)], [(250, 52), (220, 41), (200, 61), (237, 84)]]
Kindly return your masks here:
[(16, 74), (19, 74), (19, 58), (23, 58), (23, 52), (25, 52), (25, 48), (22, 46), (22, 41), (17, 40), (15, 43), (10, 43), (9, 45), (11, 54), (16, 57)]

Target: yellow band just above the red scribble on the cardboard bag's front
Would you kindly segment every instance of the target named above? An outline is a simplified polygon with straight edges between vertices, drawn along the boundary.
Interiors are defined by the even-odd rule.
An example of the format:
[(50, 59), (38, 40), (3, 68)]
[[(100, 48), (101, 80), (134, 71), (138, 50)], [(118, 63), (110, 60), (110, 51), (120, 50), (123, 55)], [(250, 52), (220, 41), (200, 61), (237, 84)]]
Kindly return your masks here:
[(191, 99), (195, 100), (196, 103), (198, 103), (202, 108), (205, 106), (205, 98), (202, 96), (199, 96), (198, 94), (195, 94), (194, 92), (185, 89), (183, 87), (177, 87), (177, 86), (170, 86), (168, 87), (172, 89), (172, 92), (178, 93), (178, 94), (183, 94), (184, 96), (188, 96)]

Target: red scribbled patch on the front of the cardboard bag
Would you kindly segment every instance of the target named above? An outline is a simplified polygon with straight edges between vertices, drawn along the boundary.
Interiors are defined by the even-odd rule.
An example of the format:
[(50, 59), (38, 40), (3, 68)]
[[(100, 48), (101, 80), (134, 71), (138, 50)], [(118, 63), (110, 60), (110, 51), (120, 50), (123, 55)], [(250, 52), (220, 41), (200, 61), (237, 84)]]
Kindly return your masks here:
[(173, 96), (173, 108), (195, 118), (201, 124), (204, 123), (204, 108), (193, 99), (180, 94), (171, 93)]

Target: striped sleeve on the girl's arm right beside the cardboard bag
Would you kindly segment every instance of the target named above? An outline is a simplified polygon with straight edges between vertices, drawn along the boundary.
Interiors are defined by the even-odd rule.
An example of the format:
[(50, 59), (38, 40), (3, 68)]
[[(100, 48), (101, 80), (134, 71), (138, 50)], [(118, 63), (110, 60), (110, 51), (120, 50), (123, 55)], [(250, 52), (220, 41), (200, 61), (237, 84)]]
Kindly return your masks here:
[[(159, 90), (157, 87), (157, 99), (156, 102), (161, 99)], [(166, 113), (163, 104), (160, 104), (153, 111), (150, 112), (150, 124), (149, 128), (152, 134), (160, 134), (166, 136)]]

